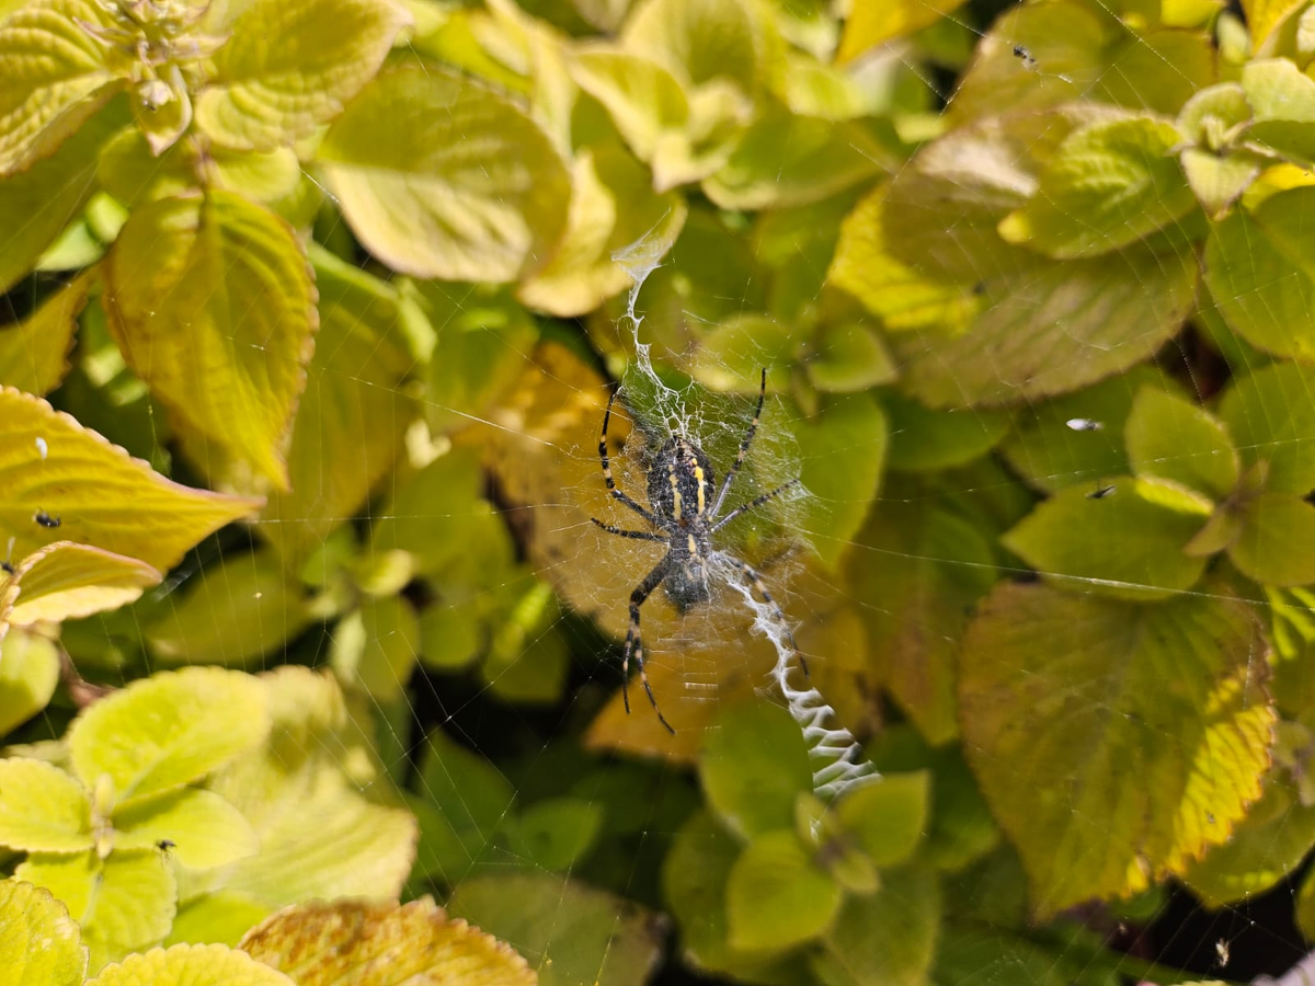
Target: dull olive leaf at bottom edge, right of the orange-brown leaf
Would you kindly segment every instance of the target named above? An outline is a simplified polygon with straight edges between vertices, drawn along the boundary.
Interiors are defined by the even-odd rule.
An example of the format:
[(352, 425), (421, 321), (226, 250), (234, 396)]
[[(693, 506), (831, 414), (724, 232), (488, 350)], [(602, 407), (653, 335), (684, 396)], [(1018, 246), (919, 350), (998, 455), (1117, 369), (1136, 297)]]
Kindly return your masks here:
[(523, 954), (539, 986), (629, 986), (661, 953), (652, 911), (554, 873), (473, 877), (447, 910)]

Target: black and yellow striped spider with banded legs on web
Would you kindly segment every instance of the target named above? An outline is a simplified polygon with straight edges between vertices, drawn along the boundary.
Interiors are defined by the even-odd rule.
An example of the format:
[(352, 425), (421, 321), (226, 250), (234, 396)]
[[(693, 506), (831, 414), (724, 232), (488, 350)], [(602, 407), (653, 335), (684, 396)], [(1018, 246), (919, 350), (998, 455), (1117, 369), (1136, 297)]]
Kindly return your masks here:
[[(707, 565), (714, 553), (718, 559), (725, 560), (735, 568), (759, 592), (767, 605), (772, 607), (772, 615), (781, 624), (785, 639), (790, 644), (790, 651), (798, 656), (803, 674), (807, 676), (809, 673), (803, 655), (794, 646), (794, 634), (790, 632), (790, 627), (785, 622), (785, 614), (776, 605), (776, 599), (772, 598), (767, 586), (763, 585), (763, 578), (759, 573), (739, 559), (713, 548), (713, 535), (717, 531), (738, 517), (743, 517), (751, 510), (763, 506), (769, 500), (775, 500), (800, 482), (797, 479), (790, 480), (769, 493), (763, 493), (746, 504), (740, 504), (725, 517), (721, 515), (726, 494), (730, 492), (731, 482), (735, 481), (735, 476), (744, 463), (744, 455), (753, 440), (753, 433), (757, 431), (757, 422), (763, 414), (763, 401), (765, 397), (767, 369), (764, 368), (763, 380), (757, 390), (757, 409), (753, 411), (753, 421), (750, 422), (748, 431), (744, 433), (744, 438), (740, 440), (735, 464), (726, 473), (721, 488), (717, 486), (713, 464), (704, 450), (684, 435), (672, 433), (671, 438), (663, 443), (647, 467), (648, 504), (651, 509), (640, 506), (625, 490), (617, 489), (617, 484), (611, 477), (611, 463), (608, 459), (608, 422), (611, 421), (611, 405), (617, 400), (615, 390), (608, 398), (608, 410), (602, 415), (598, 459), (602, 461), (602, 479), (608, 484), (608, 492), (614, 500), (621, 501), (644, 518), (654, 530), (630, 531), (613, 527), (610, 523), (604, 523), (596, 517), (590, 517), (589, 519), (608, 534), (614, 534), (618, 538), (651, 540), (667, 546), (667, 553), (663, 555), (661, 561), (630, 593), (630, 628), (626, 631), (626, 643), (622, 651), (621, 694), (626, 703), (626, 714), (629, 715), (630, 659), (634, 656), (635, 664), (639, 667), (639, 680), (643, 682), (644, 693), (648, 695), (648, 702), (652, 705), (654, 713), (658, 714), (658, 722), (665, 726), (667, 731), (673, 735), (676, 730), (671, 727), (671, 723), (661, 714), (661, 709), (658, 707), (658, 699), (654, 698), (654, 690), (648, 685), (648, 674), (644, 670), (644, 646), (639, 634), (639, 607), (644, 605), (644, 601), (659, 585), (667, 590), (668, 598), (671, 598), (672, 603), (682, 614), (692, 606), (707, 602), (711, 598), (711, 588), (707, 582)], [(714, 490), (715, 497), (713, 496)]]

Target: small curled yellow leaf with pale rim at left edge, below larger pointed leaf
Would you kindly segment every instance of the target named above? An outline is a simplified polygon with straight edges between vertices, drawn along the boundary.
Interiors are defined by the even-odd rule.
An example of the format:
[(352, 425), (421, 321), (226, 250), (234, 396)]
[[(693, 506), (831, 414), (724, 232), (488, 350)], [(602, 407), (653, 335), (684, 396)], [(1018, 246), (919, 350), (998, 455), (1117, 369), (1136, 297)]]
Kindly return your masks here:
[(145, 561), (89, 544), (60, 540), (14, 567), (17, 599), (8, 615), (16, 626), (89, 617), (135, 602), (163, 573)]

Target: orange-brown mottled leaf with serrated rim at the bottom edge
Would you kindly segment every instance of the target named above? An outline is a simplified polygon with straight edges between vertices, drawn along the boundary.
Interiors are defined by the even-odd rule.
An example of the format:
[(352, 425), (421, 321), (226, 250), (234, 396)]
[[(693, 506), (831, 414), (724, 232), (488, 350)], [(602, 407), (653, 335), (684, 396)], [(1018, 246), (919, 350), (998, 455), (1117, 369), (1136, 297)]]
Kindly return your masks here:
[(249, 931), (239, 948), (299, 986), (333, 986), (348, 978), (356, 986), (538, 982), (508, 945), (448, 919), (427, 897), (406, 904), (343, 901), (288, 907)]

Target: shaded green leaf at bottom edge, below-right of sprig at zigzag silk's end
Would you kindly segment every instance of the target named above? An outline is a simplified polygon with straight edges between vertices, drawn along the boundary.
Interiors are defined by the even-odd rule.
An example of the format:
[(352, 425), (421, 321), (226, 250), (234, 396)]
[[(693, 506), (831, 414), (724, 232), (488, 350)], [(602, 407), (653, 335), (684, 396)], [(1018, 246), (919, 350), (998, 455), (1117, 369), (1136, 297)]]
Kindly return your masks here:
[(924, 986), (940, 926), (940, 889), (931, 873), (881, 874), (872, 897), (851, 897), (811, 956), (825, 986)]

